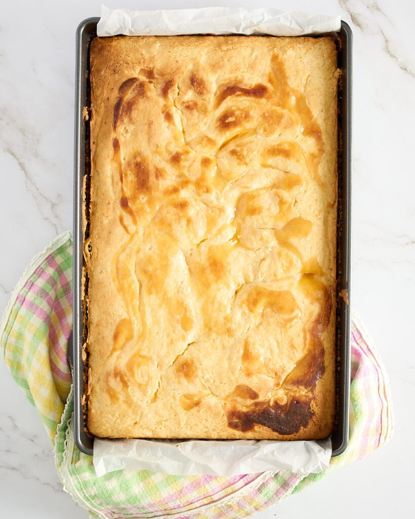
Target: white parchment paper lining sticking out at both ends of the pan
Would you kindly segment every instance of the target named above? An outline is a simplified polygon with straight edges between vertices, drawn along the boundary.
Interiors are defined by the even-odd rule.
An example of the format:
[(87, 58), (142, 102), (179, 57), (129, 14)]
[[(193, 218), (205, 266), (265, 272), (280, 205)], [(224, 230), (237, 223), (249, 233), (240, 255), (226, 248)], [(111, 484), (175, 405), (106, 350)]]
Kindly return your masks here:
[[(338, 31), (330, 18), (278, 9), (208, 7), (130, 11), (102, 6), (98, 36), (178, 34), (270, 34), (301, 36)], [(288, 469), (304, 476), (328, 467), (331, 440), (103, 440), (95, 438), (96, 475), (120, 469), (163, 474), (231, 476)]]

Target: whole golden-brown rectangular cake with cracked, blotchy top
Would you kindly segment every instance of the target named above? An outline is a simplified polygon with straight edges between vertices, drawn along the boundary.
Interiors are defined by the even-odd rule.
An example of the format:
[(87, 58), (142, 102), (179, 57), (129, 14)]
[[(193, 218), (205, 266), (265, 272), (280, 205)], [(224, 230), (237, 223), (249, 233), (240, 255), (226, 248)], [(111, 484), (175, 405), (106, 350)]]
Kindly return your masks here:
[(338, 77), (329, 37), (92, 40), (92, 434), (331, 432)]

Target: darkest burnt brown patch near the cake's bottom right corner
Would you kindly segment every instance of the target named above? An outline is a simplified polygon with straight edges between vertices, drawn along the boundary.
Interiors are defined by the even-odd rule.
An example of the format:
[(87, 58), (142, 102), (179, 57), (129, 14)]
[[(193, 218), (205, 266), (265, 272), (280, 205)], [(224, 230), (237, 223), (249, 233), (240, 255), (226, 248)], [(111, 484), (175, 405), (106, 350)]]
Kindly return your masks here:
[(295, 434), (306, 427), (313, 416), (311, 400), (292, 398), (286, 404), (255, 402), (251, 411), (227, 411), (228, 426), (237, 431), (251, 431), (255, 424), (268, 427), (279, 434)]

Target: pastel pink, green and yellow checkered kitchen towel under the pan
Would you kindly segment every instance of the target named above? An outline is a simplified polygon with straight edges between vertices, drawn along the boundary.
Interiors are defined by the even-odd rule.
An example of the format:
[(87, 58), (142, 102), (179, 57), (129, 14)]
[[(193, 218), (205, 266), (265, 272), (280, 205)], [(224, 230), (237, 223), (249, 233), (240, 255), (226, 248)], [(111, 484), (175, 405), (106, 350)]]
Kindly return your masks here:
[(66, 346), (72, 325), (72, 235), (64, 233), (34, 258), (0, 323), (3, 356), (34, 405), (54, 445), (65, 490), (91, 517), (248, 517), (278, 503), (383, 445), (393, 430), (386, 374), (356, 317), (352, 325), (350, 442), (320, 474), (289, 471), (168, 476), (120, 470), (96, 477), (92, 457), (74, 445), (73, 395)]

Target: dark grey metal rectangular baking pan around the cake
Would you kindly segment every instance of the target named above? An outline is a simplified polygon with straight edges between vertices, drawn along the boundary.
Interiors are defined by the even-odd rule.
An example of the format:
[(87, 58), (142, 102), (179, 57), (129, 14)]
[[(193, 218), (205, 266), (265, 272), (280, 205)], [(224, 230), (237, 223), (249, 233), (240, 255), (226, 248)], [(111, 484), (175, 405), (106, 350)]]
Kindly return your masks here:
[[(74, 379), (74, 435), (79, 450), (93, 454), (93, 437), (86, 432), (82, 395), (84, 370), (82, 347), (85, 342), (84, 312), (82, 309), (82, 185), (88, 174), (89, 122), (84, 108), (89, 102), (89, 43), (96, 36), (99, 18), (87, 18), (76, 32), (76, 97), (75, 97), (75, 157), (74, 157), (74, 252), (73, 252), (73, 379)], [(337, 294), (347, 291), (348, 297), (337, 298), (337, 420), (331, 436), (333, 452), (337, 456), (349, 440), (350, 394), (350, 275), (351, 275), (351, 170), (352, 170), (352, 32), (341, 22), (339, 33), (328, 35), (339, 38), (339, 68), (342, 82), (339, 90), (339, 211)], [(318, 36), (316, 36), (318, 37)], [(344, 294), (344, 292), (343, 292)], [(349, 301), (347, 302), (347, 298)], [(345, 300), (345, 301), (344, 301)], [(72, 360), (72, 359), (71, 359)]]

